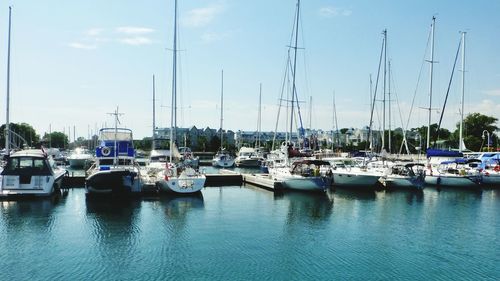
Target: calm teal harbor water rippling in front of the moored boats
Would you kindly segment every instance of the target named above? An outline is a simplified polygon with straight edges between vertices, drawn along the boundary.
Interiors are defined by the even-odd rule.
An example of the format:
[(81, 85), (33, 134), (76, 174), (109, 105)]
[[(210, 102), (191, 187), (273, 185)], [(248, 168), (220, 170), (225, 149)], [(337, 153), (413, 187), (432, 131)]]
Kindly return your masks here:
[(500, 192), (0, 202), (0, 280), (499, 280)]

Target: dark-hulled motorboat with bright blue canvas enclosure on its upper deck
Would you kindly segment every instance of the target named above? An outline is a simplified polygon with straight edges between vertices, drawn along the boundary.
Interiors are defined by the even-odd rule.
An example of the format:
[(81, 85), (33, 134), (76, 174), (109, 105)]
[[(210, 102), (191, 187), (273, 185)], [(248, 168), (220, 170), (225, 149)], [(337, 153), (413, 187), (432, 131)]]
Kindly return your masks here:
[(132, 131), (103, 128), (99, 139), (95, 163), (86, 171), (87, 194), (140, 192), (142, 180), (135, 161)]

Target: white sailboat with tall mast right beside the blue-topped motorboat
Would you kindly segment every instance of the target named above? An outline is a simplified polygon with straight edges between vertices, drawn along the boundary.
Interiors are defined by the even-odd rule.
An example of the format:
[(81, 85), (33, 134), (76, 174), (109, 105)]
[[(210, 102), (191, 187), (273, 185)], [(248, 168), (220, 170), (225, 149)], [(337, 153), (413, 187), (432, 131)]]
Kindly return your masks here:
[(177, 139), (177, 0), (174, 1), (174, 43), (172, 59), (172, 107), (170, 119), (170, 153), (169, 162), (165, 169), (159, 173), (158, 185), (161, 191), (174, 193), (196, 193), (205, 185), (206, 177), (188, 162), (183, 161), (177, 149), (175, 140)]

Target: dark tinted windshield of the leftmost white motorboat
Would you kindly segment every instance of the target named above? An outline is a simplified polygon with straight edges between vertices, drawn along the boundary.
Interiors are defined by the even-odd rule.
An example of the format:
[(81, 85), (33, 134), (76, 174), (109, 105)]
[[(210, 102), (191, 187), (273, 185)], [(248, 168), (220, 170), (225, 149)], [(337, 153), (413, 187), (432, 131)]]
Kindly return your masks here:
[(12, 157), (2, 171), (2, 175), (50, 175), (49, 164), (45, 158)]

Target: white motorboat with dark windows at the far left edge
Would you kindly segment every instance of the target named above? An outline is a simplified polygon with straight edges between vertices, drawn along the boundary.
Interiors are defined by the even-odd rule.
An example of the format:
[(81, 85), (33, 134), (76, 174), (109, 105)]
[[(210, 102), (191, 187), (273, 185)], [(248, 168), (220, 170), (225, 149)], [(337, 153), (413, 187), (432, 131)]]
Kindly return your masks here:
[(50, 196), (61, 190), (65, 174), (66, 169), (56, 165), (43, 149), (14, 152), (1, 172), (0, 197)]

